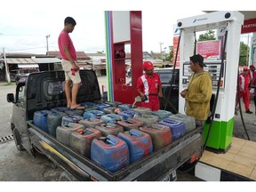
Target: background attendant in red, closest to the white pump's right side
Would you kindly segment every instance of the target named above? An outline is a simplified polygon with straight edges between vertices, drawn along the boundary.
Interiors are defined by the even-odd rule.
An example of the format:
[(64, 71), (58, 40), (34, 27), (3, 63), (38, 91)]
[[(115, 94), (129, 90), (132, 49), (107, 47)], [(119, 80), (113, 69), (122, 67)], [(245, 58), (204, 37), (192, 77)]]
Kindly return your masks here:
[[(243, 73), (239, 75), (239, 89), (240, 89), (240, 99), (243, 98), (245, 113), (252, 114), (250, 111), (249, 103), (250, 103), (250, 92), (249, 92), (249, 84), (250, 84), (250, 75), (248, 74), (248, 68), (243, 68)], [(236, 98), (238, 98), (238, 92), (236, 93)], [(238, 105), (238, 100), (236, 100), (236, 108)]]

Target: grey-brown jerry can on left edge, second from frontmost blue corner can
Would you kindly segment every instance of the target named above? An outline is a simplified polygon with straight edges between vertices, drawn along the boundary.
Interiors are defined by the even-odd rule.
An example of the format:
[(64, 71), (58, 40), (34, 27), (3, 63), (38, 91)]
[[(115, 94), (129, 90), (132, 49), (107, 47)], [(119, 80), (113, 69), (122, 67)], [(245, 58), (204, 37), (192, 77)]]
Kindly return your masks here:
[(58, 126), (56, 129), (56, 139), (62, 144), (70, 146), (71, 133), (76, 132), (79, 129), (84, 130), (84, 125), (69, 123), (68, 125)]

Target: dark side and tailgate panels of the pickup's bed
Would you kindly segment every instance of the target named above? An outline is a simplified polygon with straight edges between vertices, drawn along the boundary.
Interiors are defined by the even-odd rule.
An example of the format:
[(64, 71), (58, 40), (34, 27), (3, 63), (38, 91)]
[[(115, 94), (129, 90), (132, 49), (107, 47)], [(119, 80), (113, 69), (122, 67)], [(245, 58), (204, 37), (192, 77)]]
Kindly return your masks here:
[[(128, 181), (163, 180), (172, 171), (184, 164), (196, 152), (202, 153), (203, 127), (196, 127), (179, 140), (158, 149), (139, 161), (129, 164), (118, 172), (108, 172), (89, 158), (64, 146), (52, 135), (28, 122), (28, 132), (33, 147), (39, 148), (45, 156), (59, 165), (76, 180)], [(200, 154), (202, 156), (202, 154)]]

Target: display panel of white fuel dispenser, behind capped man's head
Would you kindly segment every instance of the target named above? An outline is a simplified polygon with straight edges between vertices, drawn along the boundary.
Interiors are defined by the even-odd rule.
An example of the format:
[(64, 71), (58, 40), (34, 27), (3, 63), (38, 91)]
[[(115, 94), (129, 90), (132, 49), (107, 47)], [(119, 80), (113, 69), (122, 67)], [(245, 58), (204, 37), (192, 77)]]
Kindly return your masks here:
[[(212, 76), (212, 87), (217, 87), (219, 84), (219, 77), (220, 77), (220, 68), (221, 68), (221, 60), (205, 60), (204, 64), (204, 71), (208, 71)], [(221, 75), (220, 79), (220, 88), (224, 88), (224, 80), (225, 80), (225, 66), (226, 62), (224, 62), (224, 71)], [(183, 76), (182, 76), (182, 84), (188, 84), (190, 76), (192, 74), (192, 70), (190, 68), (189, 62), (183, 63)]]

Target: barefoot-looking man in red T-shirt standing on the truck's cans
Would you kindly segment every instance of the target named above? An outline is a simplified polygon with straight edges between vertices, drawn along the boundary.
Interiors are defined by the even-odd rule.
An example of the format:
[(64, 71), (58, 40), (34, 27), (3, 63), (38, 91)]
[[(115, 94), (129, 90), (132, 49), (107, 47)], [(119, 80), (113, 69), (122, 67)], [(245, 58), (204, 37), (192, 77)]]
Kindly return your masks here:
[[(62, 57), (61, 65), (65, 71), (65, 94), (67, 98), (68, 108), (84, 109), (84, 107), (76, 103), (76, 96), (81, 84), (81, 78), (79, 74), (79, 67), (76, 63), (76, 49), (74, 44), (68, 35), (72, 33), (76, 26), (76, 20), (72, 17), (67, 17), (64, 20), (64, 29), (60, 32), (58, 39), (60, 55)], [(73, 83), (72, 92), (70, 85)]]

